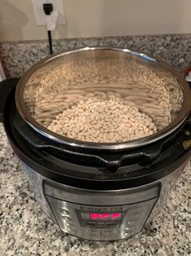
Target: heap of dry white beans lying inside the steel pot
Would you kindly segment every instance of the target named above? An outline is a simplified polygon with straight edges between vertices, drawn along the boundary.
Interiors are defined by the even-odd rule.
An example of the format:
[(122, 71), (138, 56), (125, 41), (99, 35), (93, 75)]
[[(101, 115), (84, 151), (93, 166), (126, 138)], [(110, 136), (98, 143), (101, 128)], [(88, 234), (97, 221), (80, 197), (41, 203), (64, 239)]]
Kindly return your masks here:
[(124, 99), (90, 98), (63, 110), (48, 129), (72, 139), (97, 143), (122, 142), (152, 135), (154, 122)]

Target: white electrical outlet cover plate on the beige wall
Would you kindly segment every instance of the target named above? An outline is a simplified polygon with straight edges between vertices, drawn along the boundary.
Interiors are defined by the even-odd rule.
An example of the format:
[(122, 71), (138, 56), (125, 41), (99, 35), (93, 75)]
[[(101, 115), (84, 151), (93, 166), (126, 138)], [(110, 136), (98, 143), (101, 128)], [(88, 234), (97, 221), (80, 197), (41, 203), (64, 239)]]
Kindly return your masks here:
[(65, 15), (63, 10), (63, 0), (31, 0), (37, 26), (46, 26), (46, 14), (43, 10), (44, 3), (51, 3), (53, 10), (59, 12), (57, 24), (65, 24)]

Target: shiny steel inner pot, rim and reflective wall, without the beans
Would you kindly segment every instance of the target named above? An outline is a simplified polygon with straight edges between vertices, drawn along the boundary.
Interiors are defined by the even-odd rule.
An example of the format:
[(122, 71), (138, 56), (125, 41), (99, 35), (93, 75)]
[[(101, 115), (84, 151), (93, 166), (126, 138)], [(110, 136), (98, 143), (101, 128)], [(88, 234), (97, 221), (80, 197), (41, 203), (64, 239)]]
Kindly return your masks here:
[[(54, 55), (31, 68), (16, 91), (20, 114), (41, 134), (86, 148), (132, 148), (175, 130), (189, 113), (189, 86), (163, 61), (128, 49), (89, 48)], [(90, 95), (135, 104), (158, 132), (124, 143), (89, 143), (55, 134), (47, 127), (63, 111)]]

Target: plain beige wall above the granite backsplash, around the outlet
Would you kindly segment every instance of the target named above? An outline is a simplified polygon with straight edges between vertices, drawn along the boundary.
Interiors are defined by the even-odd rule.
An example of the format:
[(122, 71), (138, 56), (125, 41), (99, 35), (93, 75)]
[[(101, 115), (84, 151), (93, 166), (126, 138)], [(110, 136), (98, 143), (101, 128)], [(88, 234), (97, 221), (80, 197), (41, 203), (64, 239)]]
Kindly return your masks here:
[[(52, 0), (54, 1), (54, 0)], [(63, 0), (66, 24), (53, 38), (191, 33), (191, 0)], [(0, 41), (46, 38), (31, 0), (0, 0)]]

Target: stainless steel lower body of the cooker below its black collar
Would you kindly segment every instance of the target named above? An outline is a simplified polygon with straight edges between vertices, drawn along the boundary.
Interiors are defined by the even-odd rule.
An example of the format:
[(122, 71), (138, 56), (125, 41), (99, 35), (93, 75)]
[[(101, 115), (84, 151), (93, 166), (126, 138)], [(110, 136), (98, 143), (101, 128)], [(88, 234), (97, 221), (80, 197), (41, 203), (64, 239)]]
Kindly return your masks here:
[(157, 182), (113, 191), (72, 188), (47, 179), (24, 162), (21, 166), (41, 209), (61, 231), (93, 241), (114, 241), (141, 232), (148, 218), (158, 214), (187, 161)]

